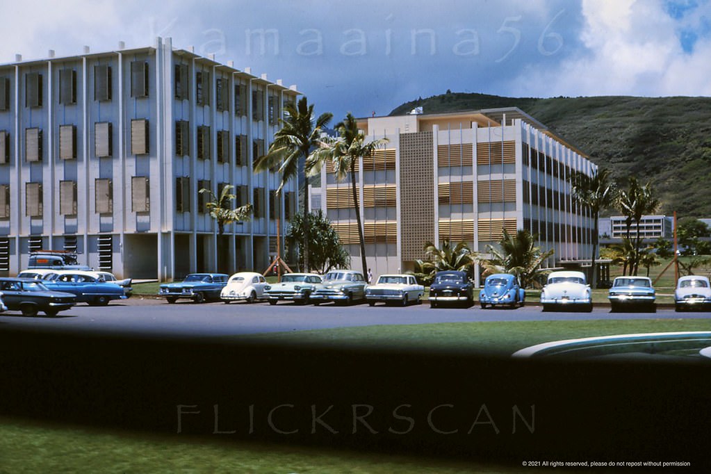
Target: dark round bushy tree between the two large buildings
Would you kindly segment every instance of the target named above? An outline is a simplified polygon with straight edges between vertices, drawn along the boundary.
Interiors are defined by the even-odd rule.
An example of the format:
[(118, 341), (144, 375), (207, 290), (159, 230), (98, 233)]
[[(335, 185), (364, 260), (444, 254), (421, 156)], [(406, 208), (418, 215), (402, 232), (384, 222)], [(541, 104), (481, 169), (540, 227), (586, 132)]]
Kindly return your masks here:
[[(304, 219), (309, 222), (304, 225)], [(351, 256), (346, 252), (338, 237), (338, 232), (333, 229), (331, 221), (320, 209), (315, 212), (299, 212), (292, 217), (289, 222), (286, 240), (289, 250), (299, 249), (299, 259), (303, 261), (306, 256), (304, 252), (304, 229), (309, 227), (309, 258), (311, 268), (316, 269), (321, 274), (326, 274), (334, 268), (348, 268)]]

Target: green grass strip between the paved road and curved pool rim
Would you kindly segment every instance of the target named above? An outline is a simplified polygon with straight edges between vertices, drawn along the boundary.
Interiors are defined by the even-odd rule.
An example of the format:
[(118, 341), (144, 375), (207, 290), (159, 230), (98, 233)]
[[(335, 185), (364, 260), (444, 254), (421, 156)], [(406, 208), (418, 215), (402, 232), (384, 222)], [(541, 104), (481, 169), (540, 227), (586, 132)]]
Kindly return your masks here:
[[(466, 310), (462, 310), (466, 311)], [(497, 310), (489, 310), (497, 311)], [(501, 310), (504, 311), (504, 310)], [(446, 350), (510, 355), (530, 345), (599, 335), (711, 331), (710, 319), (505, 321), (375, 325), (237, 336), (232, 340), (333, 345), (339, 348)]]

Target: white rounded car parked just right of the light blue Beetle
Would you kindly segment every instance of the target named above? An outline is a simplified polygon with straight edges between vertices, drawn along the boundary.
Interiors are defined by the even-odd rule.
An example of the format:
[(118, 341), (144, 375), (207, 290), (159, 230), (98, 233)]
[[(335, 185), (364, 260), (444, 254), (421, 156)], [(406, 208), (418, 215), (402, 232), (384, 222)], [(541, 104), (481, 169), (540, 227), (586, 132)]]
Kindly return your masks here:
[(543, 311), (552, 308), (578, 308), (592, 311), (592, 293), (582, 271), (553, 271), (540, 291)]

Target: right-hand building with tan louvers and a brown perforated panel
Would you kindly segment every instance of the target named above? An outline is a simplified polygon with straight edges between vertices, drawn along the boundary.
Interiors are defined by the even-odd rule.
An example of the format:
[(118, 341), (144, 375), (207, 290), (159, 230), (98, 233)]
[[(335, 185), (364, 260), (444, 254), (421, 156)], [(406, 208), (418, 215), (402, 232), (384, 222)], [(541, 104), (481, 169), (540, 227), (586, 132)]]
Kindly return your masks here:
[[(589, 259), (594, 222), (572, 198), (568, 178), (597, 167), (528, 114), (516, 108), (408, 114), (360, 119), (359, 127), (389, 140), (363, 158), (357, 176), (373, 274), (412, 270), (427, 241), (464, 240), (486, 253), (503, 229), (527, 229), (543, 249), (555, 249), (545, 266)], [(325, 166), (309, 190), (311, 208), (333, 221), (360, 269), (349, 180), (336, 181)]]

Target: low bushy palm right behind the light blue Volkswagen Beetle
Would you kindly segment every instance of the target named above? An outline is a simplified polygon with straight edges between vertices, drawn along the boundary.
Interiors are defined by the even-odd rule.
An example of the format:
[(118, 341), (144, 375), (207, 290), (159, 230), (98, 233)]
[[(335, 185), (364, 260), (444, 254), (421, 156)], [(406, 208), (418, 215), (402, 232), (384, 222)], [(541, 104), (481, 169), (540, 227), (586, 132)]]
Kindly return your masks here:
[(498, 247), (486, 246), (491, 257), (480, 259), (484, 275), (510, 273), (518, 276), (520, 286), (525, 288), (533, 285), (540, 276), (550, 273), (550, 270), (541, 269), (540, 266), (552, 256), (554, 250), (542, 251), (535, 246), (536, 238), (528, 230), (519, 229), (510, 235), (504, 229)]

